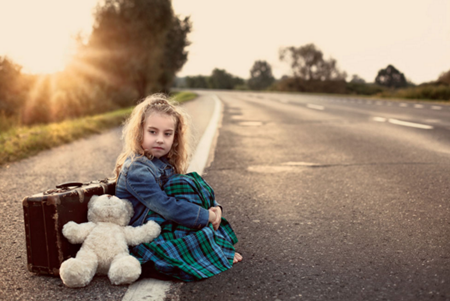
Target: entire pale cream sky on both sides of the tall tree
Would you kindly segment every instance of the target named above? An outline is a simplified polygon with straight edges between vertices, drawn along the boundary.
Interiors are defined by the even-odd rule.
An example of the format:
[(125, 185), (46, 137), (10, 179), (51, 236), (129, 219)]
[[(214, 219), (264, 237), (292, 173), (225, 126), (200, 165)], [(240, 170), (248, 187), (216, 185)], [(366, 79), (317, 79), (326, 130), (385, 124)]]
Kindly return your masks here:
[[(27, 72), (63, 69), (73, 36), (89, 33), (96, 0), (0, 0), (0, 56)], [(313, 43), (347, 80), (373, 82), (392, 64), (419, 84), (450, 70), (450, 0), (172, 0), (190, 16), (189, 58), (178, 76), (214, 68), (250, 76), (256, 60), (289, 75), (283, 47)], [(71, 48), (72, 47), (72, 48)]]

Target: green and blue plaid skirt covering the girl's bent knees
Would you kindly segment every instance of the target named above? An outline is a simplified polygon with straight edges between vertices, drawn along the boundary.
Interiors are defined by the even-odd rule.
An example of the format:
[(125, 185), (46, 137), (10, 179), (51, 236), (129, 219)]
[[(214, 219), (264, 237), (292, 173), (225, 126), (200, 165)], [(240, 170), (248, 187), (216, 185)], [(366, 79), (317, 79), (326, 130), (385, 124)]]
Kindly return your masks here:
[[(164, 185), (168, 196), (190, 201), (209, 209), (214, 205), (214, 191), (197, 173), (174, 175)], [(146, 221), (161, 226), (161, 234), (150, 243), (130, 248), (141, 264), (149, 261), (157, 272), (183, 281), (193, 281), (217, 275), (233, 265), (237, 237), (231, 225), (222, 217), (217, 231), (210, 223), (203, 229), (193, 229), (165, 220), (149, 211)]]

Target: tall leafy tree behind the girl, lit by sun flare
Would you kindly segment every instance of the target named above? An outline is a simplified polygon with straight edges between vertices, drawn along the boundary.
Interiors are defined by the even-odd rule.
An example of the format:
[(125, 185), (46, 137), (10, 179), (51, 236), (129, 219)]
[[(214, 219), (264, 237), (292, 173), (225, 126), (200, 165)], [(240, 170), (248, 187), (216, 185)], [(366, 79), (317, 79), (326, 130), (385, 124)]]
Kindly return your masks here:
[(190, 30), (170, 0), (105, 0), (81, 57), (112, 91), (133, 88), (143, 98), (169, 89), (187, 60)]

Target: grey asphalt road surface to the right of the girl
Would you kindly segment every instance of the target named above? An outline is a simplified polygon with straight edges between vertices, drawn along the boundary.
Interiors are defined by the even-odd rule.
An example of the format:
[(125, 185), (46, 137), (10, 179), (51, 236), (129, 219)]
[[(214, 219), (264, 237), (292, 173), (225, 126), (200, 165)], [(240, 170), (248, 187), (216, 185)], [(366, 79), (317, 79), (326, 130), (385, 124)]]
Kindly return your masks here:
[(217, 95), (204, 177), (244, 261), (181, 300), (450, 300), (450, 106)]

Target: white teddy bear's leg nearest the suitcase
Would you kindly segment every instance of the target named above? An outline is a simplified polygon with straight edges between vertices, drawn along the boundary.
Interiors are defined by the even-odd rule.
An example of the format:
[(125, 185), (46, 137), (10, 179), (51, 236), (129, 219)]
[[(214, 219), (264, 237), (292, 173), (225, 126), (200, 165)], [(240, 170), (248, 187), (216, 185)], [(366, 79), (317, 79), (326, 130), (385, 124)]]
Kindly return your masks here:
[(61, 264), (59, 275), (68, 287), (84, 287), (94, 277), (97, 265), (97, 255), (81, 248), (75, 258), (69, 258)]

